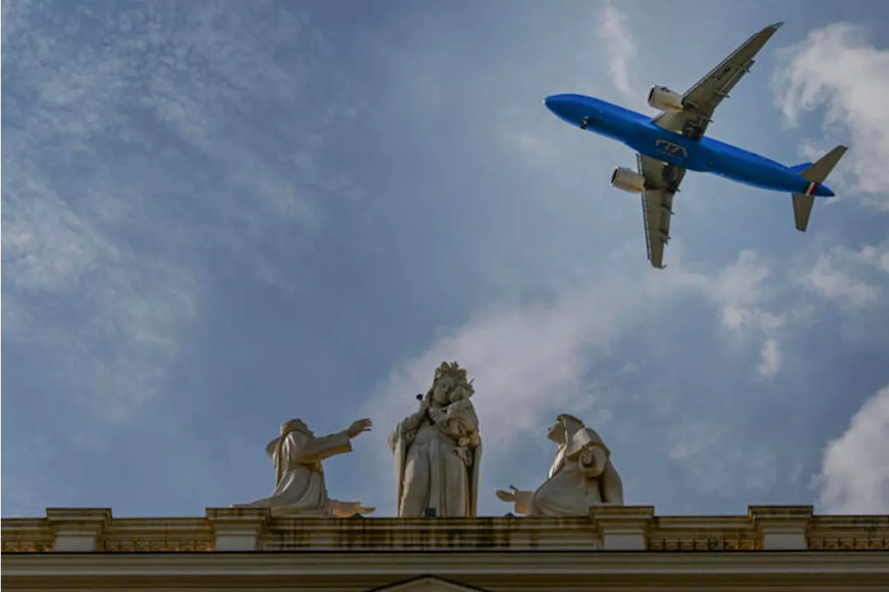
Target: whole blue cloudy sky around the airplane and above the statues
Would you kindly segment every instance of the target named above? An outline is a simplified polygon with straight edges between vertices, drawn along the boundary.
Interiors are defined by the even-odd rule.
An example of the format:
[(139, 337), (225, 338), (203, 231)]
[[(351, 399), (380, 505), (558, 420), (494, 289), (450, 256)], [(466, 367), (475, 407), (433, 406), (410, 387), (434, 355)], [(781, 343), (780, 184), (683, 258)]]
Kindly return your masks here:
[[(850, 147), (808, 232), (703, 173), (645, 259), (642, 113), (786, 21), (708, 135)], [(0, 516), (203, 516), (266, 497), (284, 420), (370, 417), (330, 495), (394, 516), (388, 432), (438, 364), (476, 386), (479, 513), (604, 438), (659, 515), (889, 513), (889, 6), (0, 2)]]

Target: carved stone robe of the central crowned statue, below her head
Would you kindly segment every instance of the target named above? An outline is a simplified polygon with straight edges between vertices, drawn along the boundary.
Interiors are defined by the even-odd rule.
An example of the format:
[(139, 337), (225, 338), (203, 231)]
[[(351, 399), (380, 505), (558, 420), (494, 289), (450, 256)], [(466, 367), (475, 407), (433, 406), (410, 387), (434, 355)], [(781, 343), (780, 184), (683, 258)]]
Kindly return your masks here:
[[(424, 517), (426, 508), (434, 509), (436, 517), (476, 516), (482, 456), (477, 430), (476, 412), (466, 403), (438, 422), (418, 412), (398, 423), (389, 436), (396, 460), (398, 517)], [(461, 446), (458, 432), (472, 435), (472, 444)]]

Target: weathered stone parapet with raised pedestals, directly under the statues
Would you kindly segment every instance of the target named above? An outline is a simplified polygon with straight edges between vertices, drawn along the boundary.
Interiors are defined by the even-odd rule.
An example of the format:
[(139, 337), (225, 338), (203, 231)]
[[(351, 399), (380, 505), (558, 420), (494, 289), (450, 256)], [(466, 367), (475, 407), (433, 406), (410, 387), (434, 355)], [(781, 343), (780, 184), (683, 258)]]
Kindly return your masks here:
[(202, 517), (115, 518), (106, 508), (50, 508), (0, 521), (0, 552), (380, 550), (889, 550), (889, 516), (817, 516), (811, 507), (750, 507), (747, 516), (656, 516), (651, 506), (589, 516), (299, 518), (260, 508)]

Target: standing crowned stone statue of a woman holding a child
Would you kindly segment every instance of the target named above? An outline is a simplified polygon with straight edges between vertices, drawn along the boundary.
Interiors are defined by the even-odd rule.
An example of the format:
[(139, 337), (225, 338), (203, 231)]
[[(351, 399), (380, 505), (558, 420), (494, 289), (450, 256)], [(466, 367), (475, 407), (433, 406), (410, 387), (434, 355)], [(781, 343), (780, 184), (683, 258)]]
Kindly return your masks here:
[(482, 441), (459, 364), (442, 363), (420, 409), (389, 435), (395, 454), (398, 517), (476, 516)]

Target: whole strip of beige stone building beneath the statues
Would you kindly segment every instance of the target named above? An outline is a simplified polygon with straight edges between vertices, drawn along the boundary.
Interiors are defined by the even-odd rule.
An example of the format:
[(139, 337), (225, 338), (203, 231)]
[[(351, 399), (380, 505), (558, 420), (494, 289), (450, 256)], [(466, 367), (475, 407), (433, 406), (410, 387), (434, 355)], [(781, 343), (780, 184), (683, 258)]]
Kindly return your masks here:
[(0, 522), (0, 589), (889, 590), (889, 516), (293, 518), (210, 508)]

